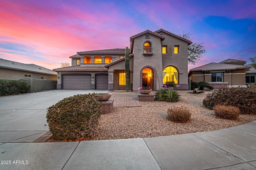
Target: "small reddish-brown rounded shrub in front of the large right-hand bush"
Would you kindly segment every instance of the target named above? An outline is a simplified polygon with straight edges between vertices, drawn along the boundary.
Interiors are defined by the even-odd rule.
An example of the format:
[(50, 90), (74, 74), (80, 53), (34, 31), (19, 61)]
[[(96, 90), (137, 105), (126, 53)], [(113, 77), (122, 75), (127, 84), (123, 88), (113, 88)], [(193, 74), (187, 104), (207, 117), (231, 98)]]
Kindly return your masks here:
[(225, 119), (237, 119), (240, 115), (239, 108), (234, 106), (216, 105), (213, 107), (213, 110), (216, 116)]

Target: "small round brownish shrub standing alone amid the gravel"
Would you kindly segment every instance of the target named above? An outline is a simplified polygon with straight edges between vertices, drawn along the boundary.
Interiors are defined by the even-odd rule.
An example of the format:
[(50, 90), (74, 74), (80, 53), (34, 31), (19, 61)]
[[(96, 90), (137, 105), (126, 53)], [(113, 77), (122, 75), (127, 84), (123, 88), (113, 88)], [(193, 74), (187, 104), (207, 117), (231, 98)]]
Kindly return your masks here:
[(186, 123), (190, 121), (191, 113), (186, 107), (173, 107), (167, 110), (167, 119), (176, 123)]

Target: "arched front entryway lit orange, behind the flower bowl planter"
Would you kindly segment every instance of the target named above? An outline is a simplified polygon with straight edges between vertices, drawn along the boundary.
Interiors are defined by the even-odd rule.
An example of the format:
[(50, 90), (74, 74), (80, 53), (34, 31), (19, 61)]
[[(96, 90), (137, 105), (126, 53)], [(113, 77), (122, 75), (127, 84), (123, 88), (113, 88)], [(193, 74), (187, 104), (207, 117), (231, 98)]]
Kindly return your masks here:
[(154, 89), (154, 70), (152, 70), (152, 68), (143, 68), (141, 78), (142, 86), (150, 86), (152, 89)]

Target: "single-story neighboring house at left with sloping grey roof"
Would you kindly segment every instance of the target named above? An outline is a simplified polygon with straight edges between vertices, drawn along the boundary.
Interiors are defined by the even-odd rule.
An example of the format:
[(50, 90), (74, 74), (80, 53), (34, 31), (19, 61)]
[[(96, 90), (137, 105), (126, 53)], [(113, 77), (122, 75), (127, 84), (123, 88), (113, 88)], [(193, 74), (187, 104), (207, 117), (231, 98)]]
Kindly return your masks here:
[(31, 78), (57, 80), (57, 73), (35, 64), (24, 64), (0, 59), (0, 79), (30, 80)]

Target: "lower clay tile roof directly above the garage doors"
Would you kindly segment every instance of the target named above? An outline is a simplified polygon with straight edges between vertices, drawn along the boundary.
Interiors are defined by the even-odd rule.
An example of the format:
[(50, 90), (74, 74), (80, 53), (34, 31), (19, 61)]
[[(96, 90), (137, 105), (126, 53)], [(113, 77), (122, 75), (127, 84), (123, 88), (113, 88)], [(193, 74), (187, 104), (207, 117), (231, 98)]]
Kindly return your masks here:
[(55, 68), (54, 71), (108, 71), (104, 66), (69, 66), (63, 68)]

